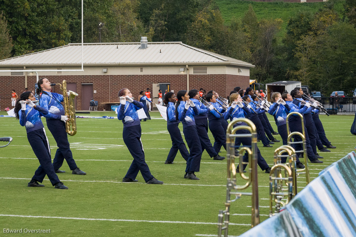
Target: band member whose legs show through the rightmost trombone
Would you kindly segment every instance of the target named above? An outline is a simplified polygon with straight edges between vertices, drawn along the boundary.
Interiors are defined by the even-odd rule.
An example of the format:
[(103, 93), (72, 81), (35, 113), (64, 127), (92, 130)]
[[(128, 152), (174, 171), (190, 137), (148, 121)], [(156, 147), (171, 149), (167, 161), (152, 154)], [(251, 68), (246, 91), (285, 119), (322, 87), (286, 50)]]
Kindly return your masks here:
[[(292, 90), (290, 93), (292, 93), (293, 95), (295, 95), (294, 93), (299, 93), (298, 90)], [(297, 111), (301, 114), (304, 114), (305, 111), (309, 110), (311, 111), (313, 108), (310, 107), (310, 103), (306, 103), (302, 108), (300, 108), (297, 104), (295, 104), (293, 102), (293, 98), (292, 96), (289, 94), (289, 93), (285, 93), (282, 95), (283, 97), (283, 100), (286, 101), (286, 103), (289, 105), (290, 107), (290, 112), (293, 112), (293, 111)], [(298, 102), (298, 101), (297, 101)], [(310, 109), (311, 108), (311, 109)], [(300, 133), (303, 133), (303, 130), (302, 130), (302, 121), (300, 119), (300, 117), (298, 115), (293, 115), (289, 118), (289, 129), (290, 129), (290, 132), (300, 132)], [(310, 140), (309, 140), (309, 136), (308, 136), (308, 131), (307, 131), (307, 128), (305, 128), (305, 122), (304, 122), (304, 131), (305, 131), (305, 140), (306, 140), (306, 147), (307, 147), (307, 155), (308, 155), (308, 158), (310, 160), (310, 162), (312, 163), (323, 163), (321, 160), (318, 160), (316, 157), (315, 157), (315, 154), (313, 152), (313, 149), (312, 147), (310, 146)], [(302, 138), (300, 138), (299, 136), (295, 136), (294, 137), (294, 141), (302, 141)], [(302, 150), (302, 145), (300, 145), (299, 143), (298, 144), (295, 144), (295, 149), (297, 151), (300, 151)]]

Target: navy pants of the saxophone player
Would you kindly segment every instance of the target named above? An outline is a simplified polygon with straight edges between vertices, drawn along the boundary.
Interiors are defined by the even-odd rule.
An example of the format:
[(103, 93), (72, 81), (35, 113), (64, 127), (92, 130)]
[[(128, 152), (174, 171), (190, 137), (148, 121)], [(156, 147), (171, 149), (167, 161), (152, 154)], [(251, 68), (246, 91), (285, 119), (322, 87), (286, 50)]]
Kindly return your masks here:
[(66, 132), (66, 123), (61, 120), (48, 119), (47, 127), (52, 133), (54, 140), (57, 142), (57, 151), (53, 159), (53, 168), (57, 170), (61, 168), (63, 160), (66, 159), (70, 170), (77, 168), (77, 164), (73, 159), (72, 151), (69, 148), (68, 136)]

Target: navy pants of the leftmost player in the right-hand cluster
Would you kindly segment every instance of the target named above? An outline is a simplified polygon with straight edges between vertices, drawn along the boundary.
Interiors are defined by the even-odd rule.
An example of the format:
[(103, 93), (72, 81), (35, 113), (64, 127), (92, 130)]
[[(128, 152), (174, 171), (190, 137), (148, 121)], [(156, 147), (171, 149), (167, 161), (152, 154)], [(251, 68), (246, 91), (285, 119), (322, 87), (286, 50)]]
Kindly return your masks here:
[(170, 162), (173, 162), (174, 158), (176, 158), (178, 150), (182, 155), (182, 157), (185, 159), (185, 161), (187, 161), (189, 157), (189, 152), (184, 144), (182, 134), (180, 134), (178, 125), (179, 123), (167, 125), (167, 130), (172, 140), (172, 147), (169, 150), (168, 157), (167, 157), (167, 161)]

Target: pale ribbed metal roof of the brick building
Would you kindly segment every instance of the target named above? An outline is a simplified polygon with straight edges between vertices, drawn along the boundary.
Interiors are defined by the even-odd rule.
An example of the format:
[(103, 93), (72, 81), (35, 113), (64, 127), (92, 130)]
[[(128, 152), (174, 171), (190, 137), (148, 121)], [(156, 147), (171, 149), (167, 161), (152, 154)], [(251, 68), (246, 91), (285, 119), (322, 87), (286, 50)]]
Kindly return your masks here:
[[(85, 65), (95, 64), (232, 64), (255, 67), (234, 58), (205, 51), (182, 42), (149, 42), (148, 48), (140, 49), (141, 43), (85, 43)], [(0, 60), (0, 66), (28, 65), (78, 65), (82, 63), (82, 45), (70, 43), (36, 53)]]

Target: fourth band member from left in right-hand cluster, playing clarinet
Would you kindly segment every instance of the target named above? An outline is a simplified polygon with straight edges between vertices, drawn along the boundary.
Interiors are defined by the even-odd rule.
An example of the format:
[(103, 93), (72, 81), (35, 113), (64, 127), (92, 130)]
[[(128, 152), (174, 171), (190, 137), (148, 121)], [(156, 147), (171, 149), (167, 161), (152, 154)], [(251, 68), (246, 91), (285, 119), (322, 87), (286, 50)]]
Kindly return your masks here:
[[(208, 93), (205, 100), (211, 103), (220, 113), (225, 112), (225, 109), (223, 109), (218, 102), (216, 102), (214, 94)], [(226, 150), (226, 130), (224, 130), (221, 123), (221, 117), (224, 117), (224, 115), (218, 114), (215, 110), (210, 110), (208, 113), (209, 129), (211, 133), (213, 133), (215, 140), (213, 147), (216, 153), (219, 153), (221, 146), (223, 146)], [(223, 120), (225, 121), (225, 118), (223, 118)]]

